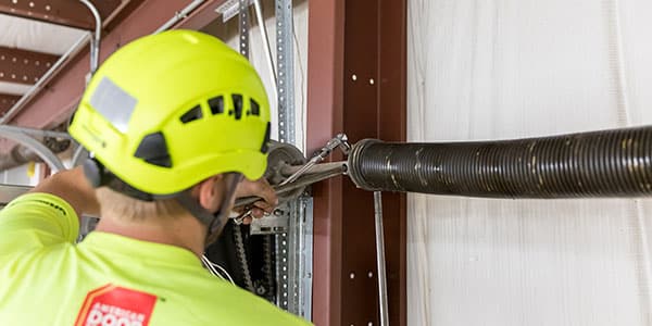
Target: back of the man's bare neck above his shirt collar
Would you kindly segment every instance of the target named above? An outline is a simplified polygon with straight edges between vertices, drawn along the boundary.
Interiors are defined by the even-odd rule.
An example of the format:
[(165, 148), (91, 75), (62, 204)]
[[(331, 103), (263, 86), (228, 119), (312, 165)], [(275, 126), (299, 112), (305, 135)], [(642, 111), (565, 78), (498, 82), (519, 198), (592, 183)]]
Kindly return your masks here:
[(139, 221), (125, 221), (108, 215), (100, 218), (96, 230), (180, 247), (190, 250), (199, 258), (204, 251), (206, 233), (205, 227), (190, 215), (167, 218), (143, 217)]

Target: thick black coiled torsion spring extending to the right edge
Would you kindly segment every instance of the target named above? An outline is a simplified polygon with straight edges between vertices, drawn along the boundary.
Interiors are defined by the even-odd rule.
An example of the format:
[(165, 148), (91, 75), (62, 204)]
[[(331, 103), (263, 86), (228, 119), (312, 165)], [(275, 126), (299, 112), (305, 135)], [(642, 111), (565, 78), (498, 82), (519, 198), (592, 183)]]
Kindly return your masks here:
[(652, 195), (652, 127), (501, 141), (358, 142), (353, 183), (366, 190), (486, 198)]

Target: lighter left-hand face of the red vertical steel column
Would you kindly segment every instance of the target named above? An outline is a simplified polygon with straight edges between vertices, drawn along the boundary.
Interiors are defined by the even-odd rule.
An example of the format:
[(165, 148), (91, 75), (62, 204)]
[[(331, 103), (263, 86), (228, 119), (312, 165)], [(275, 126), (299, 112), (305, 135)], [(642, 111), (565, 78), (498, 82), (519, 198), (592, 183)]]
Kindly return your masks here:
[[(306, 145), (311, 153), (343, 128), (344, 0), (311, 1), (308, 25)], [(313, 322), (319, 326), (340, 325), (341, 319), (341, 178), (313, 187)]]

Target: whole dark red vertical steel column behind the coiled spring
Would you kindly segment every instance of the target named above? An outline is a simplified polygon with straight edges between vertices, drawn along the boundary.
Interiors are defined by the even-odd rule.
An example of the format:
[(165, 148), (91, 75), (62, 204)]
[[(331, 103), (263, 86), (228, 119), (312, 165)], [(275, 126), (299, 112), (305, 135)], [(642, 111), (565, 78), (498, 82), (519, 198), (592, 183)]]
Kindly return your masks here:
[[(312, 1), (309, 10), (309, 154), (339, 131), (352, 142), (404, 141), (406, 0)], [(378, 325), (373, 196), (348, 178), (313, 195), (314, 322)], [(405, 196), (384, 193), (384, 213), (390, 324), (405, 325)]]

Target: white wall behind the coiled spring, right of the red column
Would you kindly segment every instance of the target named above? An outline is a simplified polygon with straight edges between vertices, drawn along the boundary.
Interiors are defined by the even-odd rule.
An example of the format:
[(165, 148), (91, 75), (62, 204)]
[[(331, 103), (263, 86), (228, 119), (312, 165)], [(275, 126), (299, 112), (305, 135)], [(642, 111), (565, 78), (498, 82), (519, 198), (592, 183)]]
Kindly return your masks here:
[[(410, 141), (652, 124), (652, 1), (409, 0)], [(409, 195), (410, 325), (652, 325), (648, 199)]]

